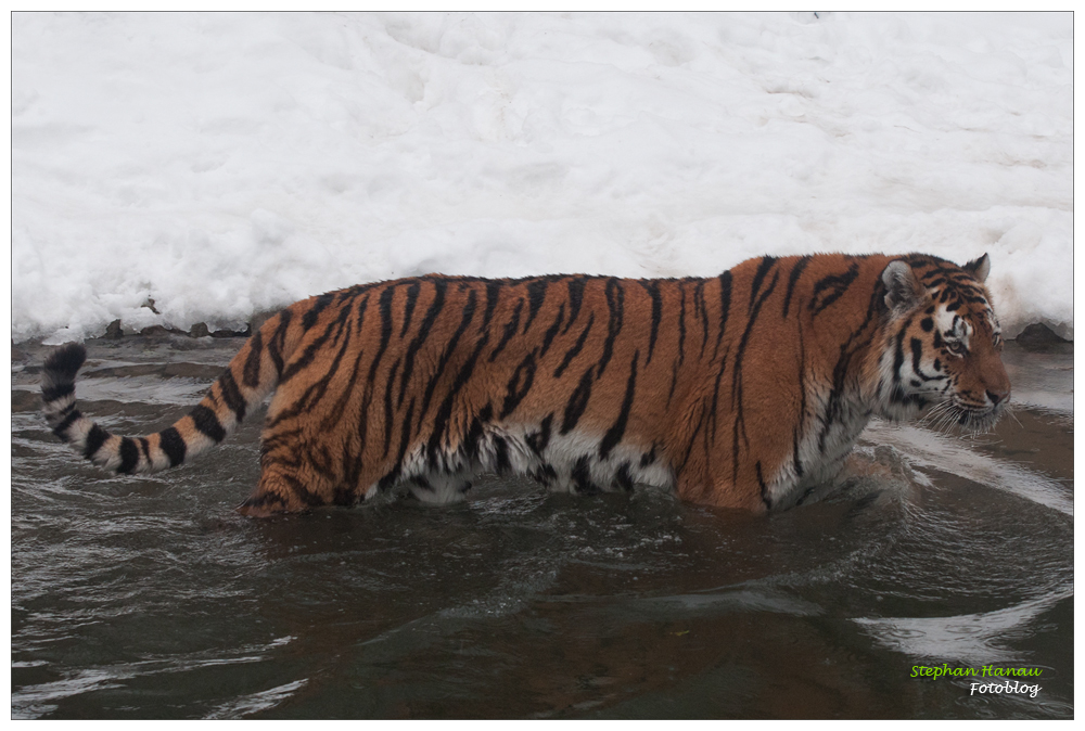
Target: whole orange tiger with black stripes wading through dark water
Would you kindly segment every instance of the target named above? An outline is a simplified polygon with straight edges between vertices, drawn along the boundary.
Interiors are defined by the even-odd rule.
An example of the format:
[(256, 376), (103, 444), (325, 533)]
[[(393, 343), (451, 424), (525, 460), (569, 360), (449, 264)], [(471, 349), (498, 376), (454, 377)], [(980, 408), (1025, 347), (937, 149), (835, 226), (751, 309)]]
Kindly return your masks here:
[(765, 513), (835, 479), (872, 416), (995, 423), (1010, 382), (988, 270), (986, 254), (816, 254), (713, 278), (374, 282), (267, 319), (156, 434), (79, 412), (77, 343), (44, 363), (43, 413), (94, 464), (151, 473), (221, 443), (270, 395), (259, 482), (237, 508), (254, 517), (396, 486), (455, 502), (486, 473)]

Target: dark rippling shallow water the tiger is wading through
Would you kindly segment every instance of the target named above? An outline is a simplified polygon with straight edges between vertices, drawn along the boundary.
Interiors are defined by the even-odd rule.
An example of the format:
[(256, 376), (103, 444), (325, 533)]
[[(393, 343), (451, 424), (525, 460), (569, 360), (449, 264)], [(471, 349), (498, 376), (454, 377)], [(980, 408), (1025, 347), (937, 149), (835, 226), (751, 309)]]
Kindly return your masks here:
[[(119, 433), (199, 399), (237, 339), (89, 343)], [(13, 360), (16, 718), (1069, 718), (1072, 352), (1010, 344), (1014, 418), (875, 424), (889, 474), (769, 517), (488, 479), (250, 521), (259, 419), (191, 465), (101, 473)], [(917, 665), (1038, 667), (1035, 697)], [(990, 679), (981, 678), (983, 682)]]

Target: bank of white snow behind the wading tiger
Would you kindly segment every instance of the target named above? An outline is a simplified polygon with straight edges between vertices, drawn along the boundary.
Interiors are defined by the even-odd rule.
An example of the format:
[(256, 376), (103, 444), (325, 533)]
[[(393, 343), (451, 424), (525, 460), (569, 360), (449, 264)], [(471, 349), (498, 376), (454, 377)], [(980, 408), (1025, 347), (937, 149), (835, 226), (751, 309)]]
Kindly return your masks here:
[[(1073, 335), (1073, 22), (12, 16), (12, 337), (431, 271), (714, 275), (988, 252)], [(143, 307), (154, 300), (155, 315)]]

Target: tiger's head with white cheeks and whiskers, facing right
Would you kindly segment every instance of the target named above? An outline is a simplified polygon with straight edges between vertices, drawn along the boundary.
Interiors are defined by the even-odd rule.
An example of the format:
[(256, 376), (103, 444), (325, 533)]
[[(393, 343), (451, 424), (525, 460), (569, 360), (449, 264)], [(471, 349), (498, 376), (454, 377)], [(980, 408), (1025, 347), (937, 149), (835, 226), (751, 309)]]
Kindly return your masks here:
[(905, 419), (931, 407), (936, 428), (982, 432), (1006, 410), (1001, 330), (983, 285), (990, 269), (986, 254), (963, 267), (910, 255), (882, 271), (889, 315), (878, 361), (881, 415)]

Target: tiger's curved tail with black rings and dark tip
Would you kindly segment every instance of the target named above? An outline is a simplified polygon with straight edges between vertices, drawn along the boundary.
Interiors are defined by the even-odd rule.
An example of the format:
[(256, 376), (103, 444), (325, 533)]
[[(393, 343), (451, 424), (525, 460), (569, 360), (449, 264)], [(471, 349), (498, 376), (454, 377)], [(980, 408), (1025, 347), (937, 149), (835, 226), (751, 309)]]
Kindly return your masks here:
[(87, 359), (87, 349), (79, 343), (68, 343), (46, 359), (42, 412), (53, 434), (106, 470), (138, 474), (175, 467), (232, 434), (245, 412), (278, 385), (281, 360), (276, 362), (259, 348), (257, 333), (212, 384), (203, 400), (171, 426), (148, 436), (122, 437), (110, 434), (76, 408), (75, 375)]

